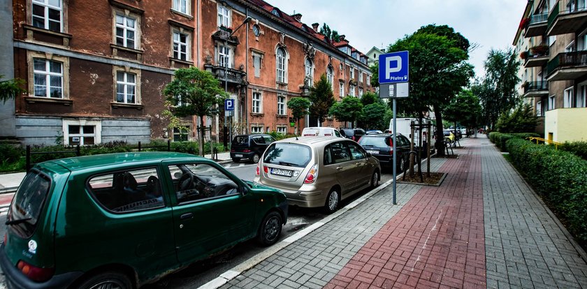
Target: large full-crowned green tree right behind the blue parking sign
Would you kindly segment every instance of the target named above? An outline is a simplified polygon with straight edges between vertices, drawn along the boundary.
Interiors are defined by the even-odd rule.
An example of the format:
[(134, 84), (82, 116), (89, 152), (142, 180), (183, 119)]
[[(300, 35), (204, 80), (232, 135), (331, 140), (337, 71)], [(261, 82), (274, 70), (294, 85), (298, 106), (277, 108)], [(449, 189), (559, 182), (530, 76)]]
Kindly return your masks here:
[[(417, 115), (433, 108), (437, 139), (442, 140), (442, 110), (469, 83), (473, 68), (466, 61), (468, 41), (446, 25), (421, 27), (389, 45), (386, 51), (410, 52), (410, 98), (398, 100), (398, 112)], [(442, 142), (437, 151), (444, 154)]]

